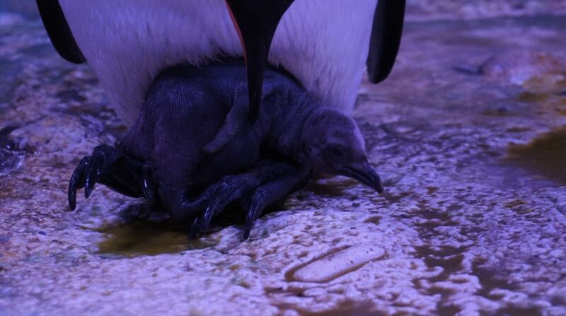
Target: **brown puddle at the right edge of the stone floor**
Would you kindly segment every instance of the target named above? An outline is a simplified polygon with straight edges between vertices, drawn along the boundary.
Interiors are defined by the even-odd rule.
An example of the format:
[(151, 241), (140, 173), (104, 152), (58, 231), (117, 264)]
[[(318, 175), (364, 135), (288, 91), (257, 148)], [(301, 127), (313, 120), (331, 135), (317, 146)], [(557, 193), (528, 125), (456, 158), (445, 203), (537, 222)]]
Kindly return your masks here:
[(507, 162), (566, 184), (566, 127), (538, 136), (530, 144), (512, 145)]

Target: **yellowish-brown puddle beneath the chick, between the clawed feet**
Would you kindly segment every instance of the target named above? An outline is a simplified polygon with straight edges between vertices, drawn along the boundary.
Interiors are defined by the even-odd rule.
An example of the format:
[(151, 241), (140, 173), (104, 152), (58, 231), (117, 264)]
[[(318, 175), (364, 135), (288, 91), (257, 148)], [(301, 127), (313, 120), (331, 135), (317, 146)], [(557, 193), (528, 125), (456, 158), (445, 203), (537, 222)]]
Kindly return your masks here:
[(187, 232), (166, 222), (133, 221), (98, 230), (110, 237), (98, 244), (98, 254), (117, 254), (125, 257), (172, 254), (185, 250), (203, 249), (216, 242), (188, 240)]

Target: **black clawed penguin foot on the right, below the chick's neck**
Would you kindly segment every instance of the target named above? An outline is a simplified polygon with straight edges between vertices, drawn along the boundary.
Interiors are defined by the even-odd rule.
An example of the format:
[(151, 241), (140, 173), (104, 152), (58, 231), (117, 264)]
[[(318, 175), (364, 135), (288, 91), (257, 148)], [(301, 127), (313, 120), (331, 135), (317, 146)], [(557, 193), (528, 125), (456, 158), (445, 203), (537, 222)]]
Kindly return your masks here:
[(243, 239), (250, 236), (253, 222), (262, 211), (308, 181), (310, 171), (296, 165), (274, 160), (263, 160), (258, 166), (239, 175), (223, 177), (209, 187), (200, 199), (207, 200), (206, 208), (190, 226), (189, 237), (209, 229), (212, 218), (234, 201), (240, 201), (248, 209)]

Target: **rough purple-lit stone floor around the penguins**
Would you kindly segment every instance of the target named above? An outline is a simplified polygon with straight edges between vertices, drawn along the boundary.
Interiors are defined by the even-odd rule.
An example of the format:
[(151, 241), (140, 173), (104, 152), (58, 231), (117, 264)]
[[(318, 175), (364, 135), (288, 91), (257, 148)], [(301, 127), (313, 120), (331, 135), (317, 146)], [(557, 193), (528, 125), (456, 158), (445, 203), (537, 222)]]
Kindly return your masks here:
[(67, 212), (125, 127), (33, 14), (0, 12), (0, 315), (565, 315), (565, 31), (412, 19), (354, 112), (386, 193), (324, 178), (247, 242), (235, 210), (188, 243), (101, 186)]

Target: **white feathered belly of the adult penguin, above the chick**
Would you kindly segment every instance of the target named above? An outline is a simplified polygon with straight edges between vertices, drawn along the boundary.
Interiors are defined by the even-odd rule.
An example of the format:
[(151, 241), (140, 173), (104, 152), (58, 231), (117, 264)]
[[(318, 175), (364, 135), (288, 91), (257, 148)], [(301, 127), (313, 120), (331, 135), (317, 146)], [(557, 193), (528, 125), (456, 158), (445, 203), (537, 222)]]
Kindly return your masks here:
[[(131, 125), (167, 66), (242, 56), (224, 0), (59, 0), (88, 64)], [(269, 62), (320, 101), (352, 110), (377, 0), (296, 0), (277, 27)]]

